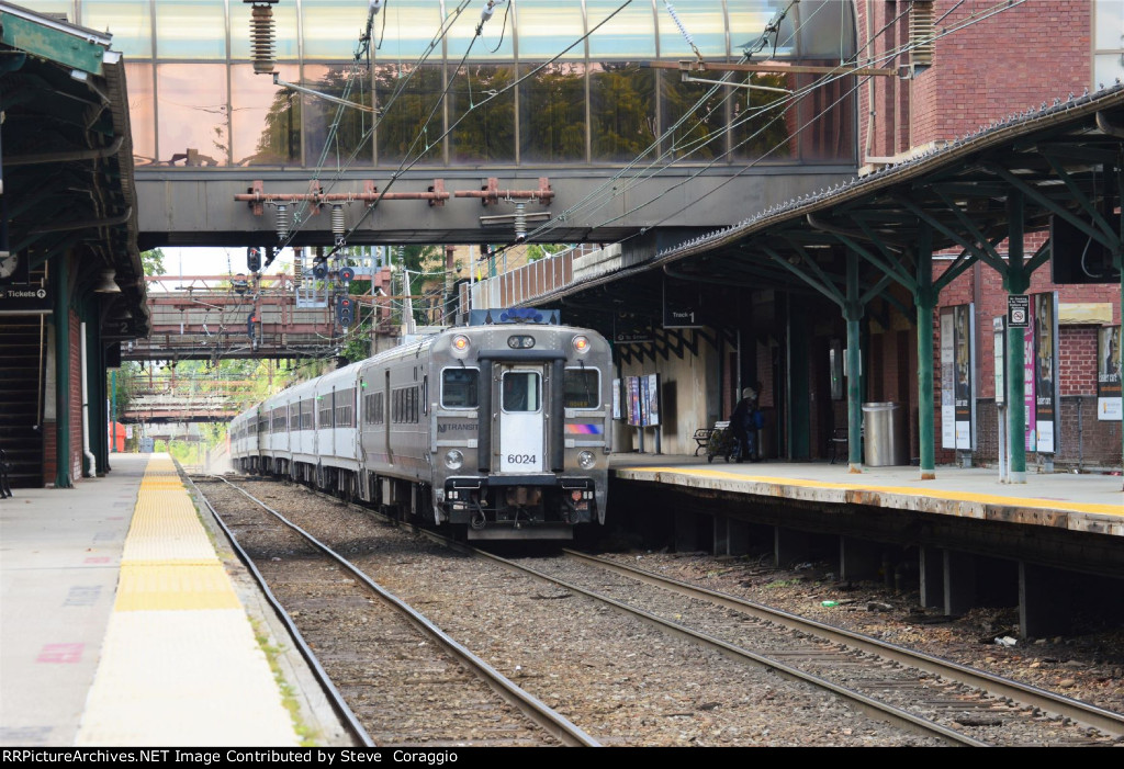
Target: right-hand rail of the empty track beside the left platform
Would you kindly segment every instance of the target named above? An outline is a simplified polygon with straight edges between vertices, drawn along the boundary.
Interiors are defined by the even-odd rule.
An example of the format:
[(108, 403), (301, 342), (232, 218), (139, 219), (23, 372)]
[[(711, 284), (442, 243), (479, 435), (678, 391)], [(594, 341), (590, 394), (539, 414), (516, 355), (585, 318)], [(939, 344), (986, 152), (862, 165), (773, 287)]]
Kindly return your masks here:
[(465, 647), (460, 644), (457, 641), (453, 640), (444, 631), (433, 624), (425, 615), (416, 611), (406, 602), (401, 601), (399, 597), (387, 591), (384, 587), (379, 585), (377, 582), (368, 577), (363, 571), (356, 568), (346, 558), (334, 551), (327, 544), (324, 544), (318, 539), (312, 537), (305, 529), (300, 528), (280, 512), (273, 510), (264, 502), (253, 496), (250, 492), (237, 485), (230, 483), (223, 476), (212, 476), (219, 478), (224, 483), (228, 484), (232, 488), (237, 489), (247, 498), (253, 501), (255, 504), (260, 505), (263, 510), (268, 511), (271, 515), (277, 518), (279, 521), (284, 523), (287, 527), (303, 537), (312, 547), (317, 548), (329, 558), (333, 558), (347, 569), (356, 579), (366, 585), (371, 591), (377, 593), (384, 602), (401, 612), (407, 620), (409, 620), (416, 628), (418, 628), (423, 633), (428, 635), (430, 639), (436, 641), (442, 646), (445, 651), (461, 660), (470, 670), (475, 672), (481, 680), (488, 684), (497, 694), (499, 694), (509, 704), (518, 707), (520, 712), (527, 715), (532, 721), (534, 721), (538, 726), (541, 726), (545, 732), (556, 738), (563, 744), (568, 747), (587, 747), (587, 748), (599, 748), (600, 743), (593, 738), (586, 734), (580, 727), (570, 722), (561, 713), (549, 707), (546, 704), (532, 696), (528, 692), (518, 687), (509, 678), (504, 676), (501, 672), (496, 670), (493, 667), (488, 665), (484, 660), (477, 657), (474, 653), (469, 651)]

